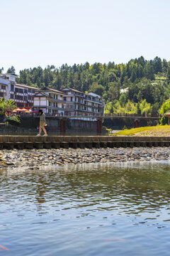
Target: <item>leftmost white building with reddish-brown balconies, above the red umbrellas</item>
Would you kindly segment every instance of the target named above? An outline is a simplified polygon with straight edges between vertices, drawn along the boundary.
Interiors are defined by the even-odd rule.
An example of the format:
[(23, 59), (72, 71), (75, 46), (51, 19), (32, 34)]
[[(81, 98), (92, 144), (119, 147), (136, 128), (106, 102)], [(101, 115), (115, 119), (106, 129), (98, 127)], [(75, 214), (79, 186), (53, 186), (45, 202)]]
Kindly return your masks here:
[(16, 107), (33, 107), (33, 96), (39, 89), (18, 84), (15, 74), (0, 74), (0, 97), (16, 102)]

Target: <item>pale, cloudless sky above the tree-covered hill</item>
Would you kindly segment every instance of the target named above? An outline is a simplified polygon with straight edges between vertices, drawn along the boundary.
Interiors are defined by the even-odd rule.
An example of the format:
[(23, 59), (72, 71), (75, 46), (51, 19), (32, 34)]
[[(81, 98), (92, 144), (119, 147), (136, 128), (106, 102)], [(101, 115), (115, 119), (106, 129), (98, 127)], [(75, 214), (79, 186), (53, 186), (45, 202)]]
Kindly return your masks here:
[(0, 0), (0, 68), (170, 60), (169, 0)]

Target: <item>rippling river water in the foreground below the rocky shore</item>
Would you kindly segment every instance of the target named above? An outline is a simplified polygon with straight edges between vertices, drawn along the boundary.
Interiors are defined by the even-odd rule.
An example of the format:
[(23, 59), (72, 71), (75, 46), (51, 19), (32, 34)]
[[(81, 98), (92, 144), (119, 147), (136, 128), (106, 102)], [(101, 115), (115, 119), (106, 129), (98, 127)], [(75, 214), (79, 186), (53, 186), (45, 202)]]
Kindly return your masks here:
[(169, 255), (169, 162), (0, 171), (1, 255)]

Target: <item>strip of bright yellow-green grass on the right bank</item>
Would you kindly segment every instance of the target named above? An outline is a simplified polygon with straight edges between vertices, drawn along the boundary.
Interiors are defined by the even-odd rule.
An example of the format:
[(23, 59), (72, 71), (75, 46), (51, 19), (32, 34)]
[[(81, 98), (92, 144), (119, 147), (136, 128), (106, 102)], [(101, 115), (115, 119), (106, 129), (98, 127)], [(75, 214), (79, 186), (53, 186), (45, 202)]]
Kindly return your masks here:
[(129, 135), (137, 134), (138, 132), (153, 131), (153, 130), (167, 129), (167, 128), (170, 129), (170, 125), (166, 124), (166, 125), (158, 125), (155, 127), (139, 127), (139, 128), (125, 129), (113, 135), (129, 136)]

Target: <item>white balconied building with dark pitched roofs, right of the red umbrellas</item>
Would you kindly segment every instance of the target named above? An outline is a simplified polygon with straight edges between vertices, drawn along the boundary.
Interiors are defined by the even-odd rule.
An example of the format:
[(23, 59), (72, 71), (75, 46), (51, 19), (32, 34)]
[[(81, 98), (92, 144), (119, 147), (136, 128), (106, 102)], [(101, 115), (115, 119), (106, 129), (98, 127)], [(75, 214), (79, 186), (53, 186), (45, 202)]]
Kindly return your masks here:
[(35, 93), (34, 110), (42, 109), (47, 114), (69, 116), (103, 114), (104, 102), (95, 93), (84, 93), (72, 88), (61, 91), (45, 88)]

